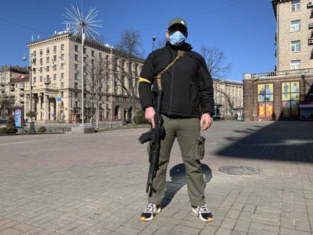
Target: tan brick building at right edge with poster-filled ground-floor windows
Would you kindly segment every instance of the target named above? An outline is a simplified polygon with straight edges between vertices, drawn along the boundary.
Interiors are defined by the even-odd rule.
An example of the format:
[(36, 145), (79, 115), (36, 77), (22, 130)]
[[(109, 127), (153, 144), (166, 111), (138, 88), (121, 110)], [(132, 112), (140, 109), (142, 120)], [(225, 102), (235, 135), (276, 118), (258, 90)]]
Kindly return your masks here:
[(244, 74), (245, 120), (313, 120), (313, 1), (271, 2), (276, 69)]

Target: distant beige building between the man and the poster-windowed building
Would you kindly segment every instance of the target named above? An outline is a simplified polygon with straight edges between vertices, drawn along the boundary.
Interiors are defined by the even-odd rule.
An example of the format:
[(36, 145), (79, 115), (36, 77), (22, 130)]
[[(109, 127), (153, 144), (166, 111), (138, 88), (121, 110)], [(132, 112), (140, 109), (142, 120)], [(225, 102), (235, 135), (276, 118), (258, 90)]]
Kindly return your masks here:
[(216, 116), (233, 117), (237, 110), (243, 109), (242, 82), (213, 78), (213, 87)]

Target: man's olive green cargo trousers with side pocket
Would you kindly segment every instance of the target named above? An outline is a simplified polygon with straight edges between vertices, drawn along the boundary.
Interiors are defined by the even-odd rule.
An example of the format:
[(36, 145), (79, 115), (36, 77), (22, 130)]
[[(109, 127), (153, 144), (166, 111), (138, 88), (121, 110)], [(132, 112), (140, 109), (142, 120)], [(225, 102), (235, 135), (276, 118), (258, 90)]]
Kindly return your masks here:
[[(177, 137), (186, 168), (186, 181), (191, 204), (192, 206), (205, 205), (205, 185), (200, 168), (200, 160), (204, 156), (204, 139), (200, 138), (200, 120), (197, 118), (170, 119), (165, 115), (162, 116), (166, 136), (161, 141), (159, 169), (153, 180), (153, 188), (156, 190), (156, 193), (152, 192), (151, 197), (148, 196), (148, 201), (156, 205), (160, 205), (163, 201), (165, 196), (166, 171), (170, 160), (171, 149)], [(149, 152), (149, 145), (147, 148)]]

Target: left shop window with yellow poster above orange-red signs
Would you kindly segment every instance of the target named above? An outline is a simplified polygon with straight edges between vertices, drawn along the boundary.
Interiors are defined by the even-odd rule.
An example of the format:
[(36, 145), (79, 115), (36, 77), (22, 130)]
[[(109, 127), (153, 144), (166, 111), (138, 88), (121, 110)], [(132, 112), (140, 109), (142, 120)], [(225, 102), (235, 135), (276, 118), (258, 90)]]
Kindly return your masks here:
[(273, 83), (258, 84), (258, 116), (260, 118), (273, 116)]

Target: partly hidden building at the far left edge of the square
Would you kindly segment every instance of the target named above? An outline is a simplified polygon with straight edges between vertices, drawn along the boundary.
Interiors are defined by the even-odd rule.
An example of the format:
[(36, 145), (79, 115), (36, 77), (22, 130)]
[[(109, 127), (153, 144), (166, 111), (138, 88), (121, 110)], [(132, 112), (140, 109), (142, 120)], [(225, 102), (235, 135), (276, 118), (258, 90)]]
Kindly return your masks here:
[(10, 81), (27, 73), (28, 69), (25, 67), (0, 66), (0, 118), (5, 118), (9, 114), (9, 108), (16, 105), (15, 89), (10, 86)]

